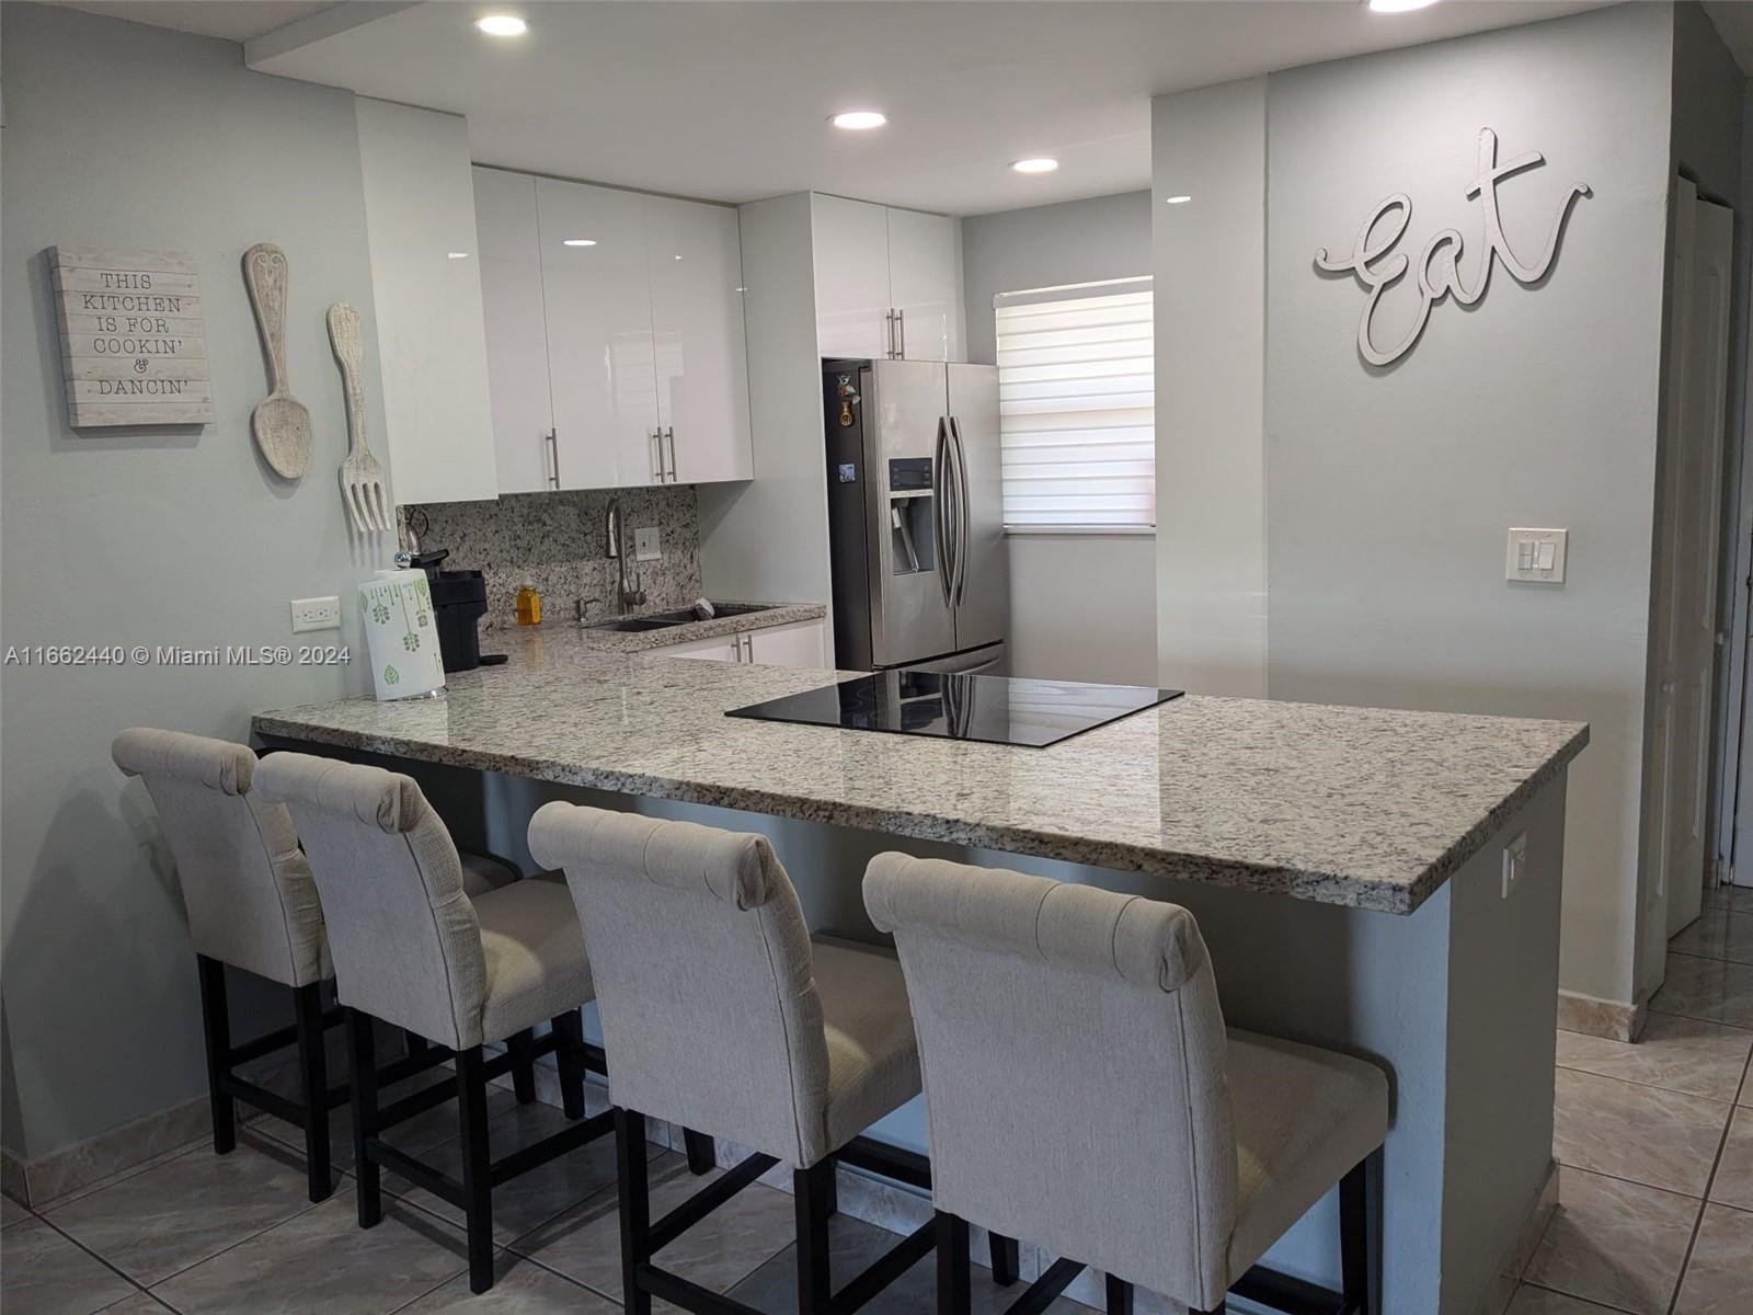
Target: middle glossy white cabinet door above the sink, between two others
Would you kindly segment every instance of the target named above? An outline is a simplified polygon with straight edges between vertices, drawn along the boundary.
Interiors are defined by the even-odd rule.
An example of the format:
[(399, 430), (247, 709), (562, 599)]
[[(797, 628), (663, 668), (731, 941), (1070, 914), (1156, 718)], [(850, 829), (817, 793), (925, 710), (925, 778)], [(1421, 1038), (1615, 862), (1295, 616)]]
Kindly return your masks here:
[(536, 179), (559, 487), (650, 484), (657, 377), (645, 196)]

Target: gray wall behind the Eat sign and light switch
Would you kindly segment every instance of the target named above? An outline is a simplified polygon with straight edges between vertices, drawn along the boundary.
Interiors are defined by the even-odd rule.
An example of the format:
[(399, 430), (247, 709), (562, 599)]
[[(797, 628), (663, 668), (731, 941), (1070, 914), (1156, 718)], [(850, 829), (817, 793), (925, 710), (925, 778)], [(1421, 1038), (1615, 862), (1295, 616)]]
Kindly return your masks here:
[[(1267, 682), (1274, 698), (1576, 717), (1562, 982), (1632, 998), (1644, 656), (1662, 366), (1671, 12), (1578, 18), (1278, 74), (1269, 88)], [(1355, 351), (1364, 291), (1320, 277), (1369, 209), (1413, 200), (1402, 249), (1481, 249), (1481, 126), (1525, 252), (1578, 179), (1539, 288), (1502, 270), (1437, 305), (1385, 370)], [(1408, 296), (1385, 302), (1381, 333)], [(1567, 526), (1564, 586), (1504, 580), (1508, 526)]]

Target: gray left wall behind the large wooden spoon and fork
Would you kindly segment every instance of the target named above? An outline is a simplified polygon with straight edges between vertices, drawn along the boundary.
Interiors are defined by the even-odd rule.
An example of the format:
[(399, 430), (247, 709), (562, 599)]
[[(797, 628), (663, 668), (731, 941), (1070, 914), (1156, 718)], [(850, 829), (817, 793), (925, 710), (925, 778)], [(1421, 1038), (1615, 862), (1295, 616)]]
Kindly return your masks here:
[[(291, 642), (287, 600), (351, 601), (387, 549), (349, 549), (335, 486), (345, 423), (330, 303), (358, 305), (375, 340), (352, 95), (252, 74), (230, 42), (67, 9), (7, 4), (0, 23), (4, 643)], [(291, 261), (289, 375), (316, 431), (298, 486), (265, 468), (249, 435), (266, 382), (238, 261), (265, 240)], [(58, 242), (195, 256), (214, 424), (67, 428), (42, 256)], [(382, 433), (375, 363), (366, 394)], [(338, 638), (356, 640), (342, 614)], [(361, 693), (363, 675), (5, 668), (12, 1150), (40, 1157), (203, 1091), (175, 877), (110, 738), (142, 722), (244, 738), (251, 712)]]

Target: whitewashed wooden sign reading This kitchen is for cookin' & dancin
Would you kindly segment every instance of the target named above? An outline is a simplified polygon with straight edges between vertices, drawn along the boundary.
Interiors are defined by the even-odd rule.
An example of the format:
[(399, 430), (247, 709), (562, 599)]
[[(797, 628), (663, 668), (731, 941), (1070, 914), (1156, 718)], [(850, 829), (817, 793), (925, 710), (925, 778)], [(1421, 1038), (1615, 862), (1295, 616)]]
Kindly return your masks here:
[(210, 424), (202, 275), (189, 256), (49, 247), (67, 421)]

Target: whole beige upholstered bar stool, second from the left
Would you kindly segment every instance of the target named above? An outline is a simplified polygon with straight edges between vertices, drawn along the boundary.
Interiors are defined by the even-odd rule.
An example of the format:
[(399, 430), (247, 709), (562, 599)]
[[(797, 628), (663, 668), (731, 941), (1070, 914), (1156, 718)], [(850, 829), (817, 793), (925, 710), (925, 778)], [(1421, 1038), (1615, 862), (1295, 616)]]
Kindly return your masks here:
[[(470, 898), (445, 824), (410, 778), (309, 754), (268, 754), (256, 768), (268, 800), (284, 803), (328, 915), (335, 982), (347, 1013), (354, 1071), (373, 1071), (372, 1019), (424, 1036), (454, 1057), (463, 1147), (461, 1182), (384, 1141), (393, 1124), (436, 1105), (426, 1092), (380, 1108), (377, 1085), (352, 1084), (359, 1226), (382, 1220), (384, 1168), (461, 1208), (468, 1282), (493, 1287), (493, 1189), (614, 1126), (584, 1119), (578, 1008), (591, 1001), (591, 963), (564, 882), (529, 878)], [(550, 1020), (540, 1041), (529, 1029)], [(484, 1045), (526, 1038), (494, 1059)], [(487, 1080), (515, 1057), (554, 1052), (566, 1113), (582, 1122), (501, 1159), (487, 1141)], [(436, 1089), (444, 1096), (444, 1087)]]

